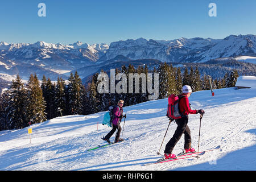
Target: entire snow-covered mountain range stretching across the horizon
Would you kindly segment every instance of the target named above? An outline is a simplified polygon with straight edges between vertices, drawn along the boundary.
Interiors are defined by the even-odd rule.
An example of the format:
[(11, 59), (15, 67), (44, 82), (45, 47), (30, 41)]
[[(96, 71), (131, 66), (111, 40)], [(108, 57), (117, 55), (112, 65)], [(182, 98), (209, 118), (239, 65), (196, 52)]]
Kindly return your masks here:
[[(108, 44), (76, 42), (63, 45), (43, 41), (29, 43), (0, 42), (0, 74), (16, 75), (24, 79), (37, 73), (56, 80), (67, 78), (69, 72), (87, 67), (110, 65), (127, 60), (159, 60), (169, 63), (204, 63), (209, 60), (241, 57), (256, 59), (255, 35), (230, 35), (225, 39), (180, 38), (175, 40), (120, 40)], [(119, 59), (122, 57), (122, 59)], [(239, 57), (239, 59), (236, 59)]]

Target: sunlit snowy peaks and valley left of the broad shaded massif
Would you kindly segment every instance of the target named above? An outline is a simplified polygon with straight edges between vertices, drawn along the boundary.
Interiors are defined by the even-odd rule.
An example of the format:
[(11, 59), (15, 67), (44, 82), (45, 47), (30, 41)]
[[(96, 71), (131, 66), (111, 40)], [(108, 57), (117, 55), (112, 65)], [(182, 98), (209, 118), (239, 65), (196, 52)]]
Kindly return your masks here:
[(69, 45), (43, 41), (34, 44), (1, 42), (0, 73), (19, 73), (26, 78), (36, 72), (39, 77), (46, 75), (54, 80), (57, 76), (65, 78), (64, 73), (93, 65), (108, 48), (107, 44), (89, 45), (81, 42)]

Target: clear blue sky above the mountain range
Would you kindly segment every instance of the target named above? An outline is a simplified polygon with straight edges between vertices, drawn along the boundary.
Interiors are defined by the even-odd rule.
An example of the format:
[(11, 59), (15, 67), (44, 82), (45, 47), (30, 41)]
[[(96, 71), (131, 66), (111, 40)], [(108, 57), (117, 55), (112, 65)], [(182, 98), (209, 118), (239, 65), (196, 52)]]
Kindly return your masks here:
[[(46, 4), (46, 17), (38, 4)], [(210, 17), (209, 3), (217, 16)], [(256, 34), (256, 1), (230, 0), (1, 0), (0, 42), (70, 44), (126, 39), (223, 39)]]

